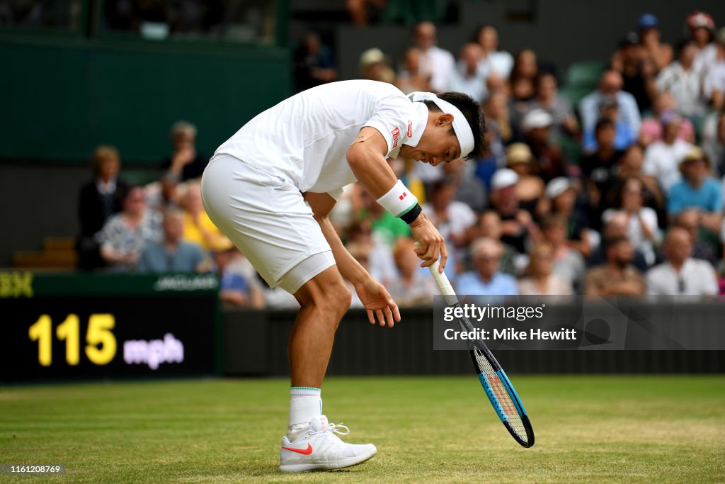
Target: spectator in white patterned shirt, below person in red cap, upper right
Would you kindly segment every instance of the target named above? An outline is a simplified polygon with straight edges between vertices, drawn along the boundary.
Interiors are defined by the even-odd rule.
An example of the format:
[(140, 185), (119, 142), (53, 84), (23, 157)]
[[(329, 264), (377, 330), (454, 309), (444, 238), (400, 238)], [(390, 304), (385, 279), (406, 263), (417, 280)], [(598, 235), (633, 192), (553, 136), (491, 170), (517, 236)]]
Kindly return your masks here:
[(684, 41), (679, 45), (677, 60), (665, 67), (657, 76), (658, 91), (670, 91), (677, 103), (677, 112), (689, 118), (705, 113), (702, 86), (704, 70), (695, 68), (697, 45)]

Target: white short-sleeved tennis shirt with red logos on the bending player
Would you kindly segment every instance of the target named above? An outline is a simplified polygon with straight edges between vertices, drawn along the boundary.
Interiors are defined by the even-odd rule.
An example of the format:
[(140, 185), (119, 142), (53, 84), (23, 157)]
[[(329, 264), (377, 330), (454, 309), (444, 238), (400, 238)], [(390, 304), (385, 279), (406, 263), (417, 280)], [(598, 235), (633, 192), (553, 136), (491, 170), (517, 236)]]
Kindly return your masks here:
[(323, 84), (285, 99), (257, 115), (225, 141), (225, 154), (291, 181), (301, 192), (335, 199), (354, 181), (347, 150), (360, 128), (384, 136), (388, 157), (403, 143), (417, 146), (428, 122), (428, 107), (411, 102), (395, 86), (377, 81)]

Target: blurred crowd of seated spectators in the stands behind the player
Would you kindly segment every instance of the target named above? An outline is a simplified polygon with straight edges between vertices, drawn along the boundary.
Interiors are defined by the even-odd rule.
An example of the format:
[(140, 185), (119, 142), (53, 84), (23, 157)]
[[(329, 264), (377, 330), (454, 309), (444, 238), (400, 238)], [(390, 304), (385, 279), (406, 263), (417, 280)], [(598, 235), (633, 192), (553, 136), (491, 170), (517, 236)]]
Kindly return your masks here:
[[(403, 92), (462, 91), (481, 102), (486, 155), (437, 167), (391, 160), (446, 239), (446, 272), (469, 295), (725, 293), (725, 27), (693, 12), (687, 38), (660, 38), (658, 19), (633, 19), (577, 97), (532, 49), (510, 54), (484, 25), (454, 54), (436, 26), (415, 26), (397, 69), (377, 47), (360, 78)], [(674, 40), (674, 39), (673, 39)], [(331, 50), (308, 33), (294, 56), (299, 89), (338, 79)], [(172, 128), (159, 181), (127, 186), (113, 147), (94, 154), (80, 192), (84, 269), (218, 271), (233, 305), (296, 305), (271, 290), (204, 212), (196, 128)], [(401, 305), (430, 304), (436, 287), (405, 222), (359, 184), (331, 220), (350, 253)], [(353, 306), (360, 305), (353, 292)]]

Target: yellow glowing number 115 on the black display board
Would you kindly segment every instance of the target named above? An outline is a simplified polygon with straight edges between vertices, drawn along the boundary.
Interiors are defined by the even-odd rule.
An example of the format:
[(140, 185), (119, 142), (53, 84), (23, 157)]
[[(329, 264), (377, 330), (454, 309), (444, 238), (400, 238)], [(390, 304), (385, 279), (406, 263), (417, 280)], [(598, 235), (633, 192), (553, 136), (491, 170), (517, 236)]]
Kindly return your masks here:
[[(112, 314), (91, 314), (86, 332), (86, 356), (91, 363), (105, 365), (116, 356), (116, 337), (111, 331), (115, 325)], [(69, 314), (55, 330), (58, 340), (65, 341), (65, 361), (69, 365), (77, 365), (80, 361), (79, 326), (78, 315)], [(50, 366), (53, 361), (50, 316), (43, 314), (38, 318), (28, 329), (28, 336), (30, 341), (38, 342), (38, 363), (41, 366)]]

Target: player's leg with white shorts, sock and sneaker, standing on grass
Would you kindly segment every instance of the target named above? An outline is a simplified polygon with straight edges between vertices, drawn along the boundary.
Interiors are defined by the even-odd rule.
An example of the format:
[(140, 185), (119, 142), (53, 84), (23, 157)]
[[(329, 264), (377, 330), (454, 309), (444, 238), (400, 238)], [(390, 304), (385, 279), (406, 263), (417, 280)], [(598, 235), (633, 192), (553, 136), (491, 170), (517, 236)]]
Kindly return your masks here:
[(215, 225), (270, 286), (280, 285), (301, 305), (289, 356), (293, 382), (308, 385), (291, 388), (290, 422), (297, 425), (282, 439), (280, 468), (337, 469), (370, 459), (375, 446), (344, 443), (335, 434), (347, 427), (321, 415), (320, 385), (350, 295), (302, 194), (280, 176), (222, 156), (204, 171), (202, 197)]

